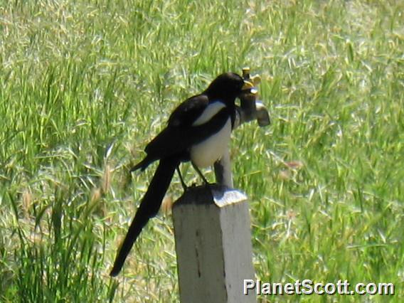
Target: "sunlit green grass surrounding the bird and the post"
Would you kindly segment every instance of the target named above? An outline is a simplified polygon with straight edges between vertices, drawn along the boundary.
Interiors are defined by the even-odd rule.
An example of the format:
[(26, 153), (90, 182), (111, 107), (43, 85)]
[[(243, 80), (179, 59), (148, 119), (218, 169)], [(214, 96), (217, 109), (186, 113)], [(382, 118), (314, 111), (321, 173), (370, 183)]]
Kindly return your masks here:
[(0, 0), (1, 302), (178, 300), (169, 215), (107, 275), (155, 166), (127, 171), (181, 100), (245, 65), (272, 117), (232, 142), (257, 277), (403, 299), (404, 3), (264, 2)]

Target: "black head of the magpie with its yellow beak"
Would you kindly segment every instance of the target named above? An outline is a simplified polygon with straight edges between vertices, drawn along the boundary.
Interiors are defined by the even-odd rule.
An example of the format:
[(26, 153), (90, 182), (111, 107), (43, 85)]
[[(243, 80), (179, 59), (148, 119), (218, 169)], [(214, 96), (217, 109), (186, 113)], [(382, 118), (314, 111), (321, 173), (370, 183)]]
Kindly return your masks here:
[(236, 73), (223, 73), (212, 81), (205, 90), (205, 93), (212, 100), (221, 99), (234, 102), (238, 95), (251, 88), (250, 83), (243, 80), (240, 75)]

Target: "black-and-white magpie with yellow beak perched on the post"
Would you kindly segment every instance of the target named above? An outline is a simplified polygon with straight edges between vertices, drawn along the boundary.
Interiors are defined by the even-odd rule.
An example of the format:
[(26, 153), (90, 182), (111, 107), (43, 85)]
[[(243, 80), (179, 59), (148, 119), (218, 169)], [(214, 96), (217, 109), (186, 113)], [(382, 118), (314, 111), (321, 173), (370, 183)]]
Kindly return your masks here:
[(110, 276), (118, 275), (142, 228), (156, 216), (176, 170), (185, 186), (179, 164), (191, 161), (203, 178), (198, 168), (213, 165), (223, 155), (235, 122), (235, 98), (250, 88), (238, 74), (219, 75), (201, 94), (176, 107), (166, 128), (147, 144), (147, 155), (130, 171), (144, 171), (154, 161), (159, 161), (159, 165), (119, 248)]

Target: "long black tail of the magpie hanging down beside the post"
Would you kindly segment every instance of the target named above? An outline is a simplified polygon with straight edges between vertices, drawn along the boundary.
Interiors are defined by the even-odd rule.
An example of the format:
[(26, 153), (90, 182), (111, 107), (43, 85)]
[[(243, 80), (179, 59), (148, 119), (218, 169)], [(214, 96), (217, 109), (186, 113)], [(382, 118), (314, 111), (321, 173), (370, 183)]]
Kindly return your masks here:
[(110, 276), (115, 277), (119, 274), (124, 265), (124, 261), (129, 254), (134, 242), (136, 241), (139, 233), (147, 224), (150, 218), (156, 216), (163, 201), (164, 195), (169, 188), (171, 179), (174, 175), (176, 167), (179, 166), (179, 159), (171, 157), (167, 159), (161, 159), (159, 166), (151, 179), (149, 188), (144, 194), (142, 202), (137, 213), (132, 220), (127, 235), (124, 238), (124, 242), (119, 248), (117, 257), (115, 258), (114, 267), (110, 272)]

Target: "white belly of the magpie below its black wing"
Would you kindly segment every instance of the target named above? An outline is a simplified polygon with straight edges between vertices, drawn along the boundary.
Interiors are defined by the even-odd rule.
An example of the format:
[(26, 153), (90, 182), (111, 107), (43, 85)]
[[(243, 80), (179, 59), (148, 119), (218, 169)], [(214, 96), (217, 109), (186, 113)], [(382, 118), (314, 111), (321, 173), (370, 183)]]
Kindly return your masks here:
[(213, 165), (228, 148), (230, 141), (231, 122), (230, 118), (220, 131), (205, 141), (191, 147), (191, 161), (198, 167)]

